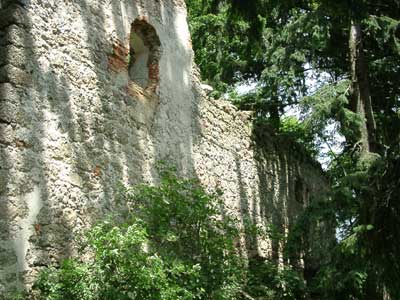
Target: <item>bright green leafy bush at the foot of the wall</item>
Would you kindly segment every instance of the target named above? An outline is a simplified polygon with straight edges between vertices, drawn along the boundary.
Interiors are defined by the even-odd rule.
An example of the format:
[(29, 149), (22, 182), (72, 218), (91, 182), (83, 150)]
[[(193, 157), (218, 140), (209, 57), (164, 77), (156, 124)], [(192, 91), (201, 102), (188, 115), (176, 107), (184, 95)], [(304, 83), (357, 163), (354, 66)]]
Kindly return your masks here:
[[(239, 222), (218, 193), (165, 165), (160, 177), (159, 185), (124, 190), (119, 200), (127, 207), (80, 238), (78, 258), (44, 269), (29, 299), (304, 298), (302, 277), (290, 266), (239, 254)], [(243, 230), (268, 234), (250, 222)]]

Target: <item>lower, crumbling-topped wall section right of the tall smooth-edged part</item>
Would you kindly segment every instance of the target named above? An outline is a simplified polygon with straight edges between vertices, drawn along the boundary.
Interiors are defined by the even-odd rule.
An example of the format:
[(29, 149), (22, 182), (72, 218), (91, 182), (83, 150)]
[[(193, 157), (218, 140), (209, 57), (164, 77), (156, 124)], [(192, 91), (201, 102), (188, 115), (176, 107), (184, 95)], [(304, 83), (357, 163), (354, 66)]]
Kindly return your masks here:
[[(204, 96), (199, 103), (200, 132), (194, 134), (193, 147), (196, 175), (206, 187), (223, 192), (242, 224), (247, 219), (265, 229), (272, 225), (287, 237), (310, 202), (326, 195), (322, 170), (305, 156), (295, 155), (292, 144), (268, 132), (255, 136), (249, 112)], [(269, 258), (281, 265), (289, 262), (283, 255), (283, 241), (247, 234), (242, 244), (243, 254), (249, 257)], [(304, 266), (302, 259), (290, 263)]]

